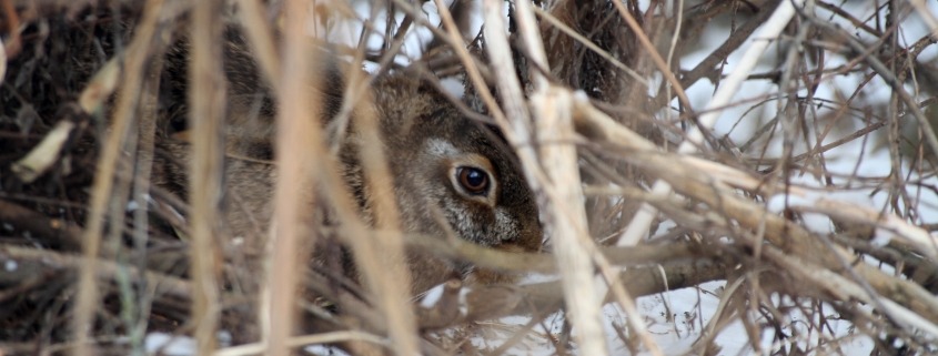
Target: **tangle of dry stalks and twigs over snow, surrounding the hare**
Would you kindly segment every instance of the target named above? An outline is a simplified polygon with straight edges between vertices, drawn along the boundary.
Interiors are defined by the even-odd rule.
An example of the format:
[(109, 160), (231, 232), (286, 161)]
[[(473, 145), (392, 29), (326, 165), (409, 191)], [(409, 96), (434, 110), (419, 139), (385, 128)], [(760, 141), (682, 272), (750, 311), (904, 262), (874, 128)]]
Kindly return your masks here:
[[(858, 337), (876, 355), (938, 352), (934, 7), (536, 1), (515, 2), (504, 18), (503, 1), (456, 1), (446, 11), (431, 3), (441, 2), (389, 0), (355, 12), (367, 4), (0, 0), (0, 350), (142, 353), (144, 336), (163, 332), (192, 336), (208, 354), (222, 329), (231, 336), (224, 355), (322, 343), (362, 354), (498, 354), (525, 343), (558, 354), (659, 354), (633, 298), (726, 281), (720, 307), (702, 316), (694, 354), (720, 354), (715, 340), (737, 321), (760, 354), (844, 354)], [(411, 313), (407, 301), (389, 297), (394, 283), (356, 286), (304, 264), (292, 252), (322, 232), (297, 214), (278, 215), (285, 227), (260, 251), (214, 238), (224, 236), (215, 222), (225, 98), (212, 63), (225, 27), (244, 31), (264, 80), (288, 93), (286, 116), (309, 115), (289, 104), (312, 98), (303, 75), (282, 74), (303, 62), (303, 29), (335, 41), (364, 28), (370, 47), (333, 50), (377, 71), (464, 81), (462, 108), (502, 129), (538, 196), (545, 253), (381, 225), (350, 227), (356, 233), (341, 243), (364, 256), (403, 243), (558, 282), (476, 287), (460, 298), (452, 281), (435, 305)], [(281, 44), (273, 32), (284, 33)], [(191, 65), (202, 69), (189, 84), (202, 120), (192, 128), (202, 167), (192, 172), (193, 204), (150, 182), (165, 139), (159, 118), (173, 110), (159, 100), (161, 73), (178, 64), (164, 54), (183, 34), (192, 37)], [(402, 48), (423, 55), (404, 60)], [(288, 184), (315, 179), (303, 167), (314, 152), (329, 154), (302, 136), (316, 128), (294, 129), (283, 130), (294, 134), (279, 138), (279, 150), (305, 149), (278, 156), (295, 167), (271, 197), (279, 212), (302, 211), (291, 201), (300, 187)], [(888, 167), (868, 174), (860, 167), (874, 156)], [(243, 263), (245, 254), (272, 272)], [(377, 260), (357, 261), (369, 281), (399, 281)], [(616, 335), (603, 327), (602, 295), (633, 316)], [(532, 332), (561, 309), (572, 335)], [(531, 318), (485, 322), (511, 315)], [(851, 323), (849, 335), (830, 319)], [(627, 347), (608, 350), (607, 339)]]

